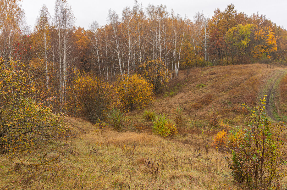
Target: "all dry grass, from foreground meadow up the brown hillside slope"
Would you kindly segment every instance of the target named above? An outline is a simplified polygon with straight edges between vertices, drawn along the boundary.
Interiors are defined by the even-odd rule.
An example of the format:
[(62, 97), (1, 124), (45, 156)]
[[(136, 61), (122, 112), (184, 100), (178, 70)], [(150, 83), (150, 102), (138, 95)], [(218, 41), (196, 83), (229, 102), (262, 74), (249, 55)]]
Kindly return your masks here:
[[(244, 127), (241, 104), (254, 105), (272, 77), (279, 80), (285, 72), (253, 64), (197, 68), (188, 78), (181, 73), (149, 108), (173, 119), (175, 109), (188, 98), (183, 126), (172, 138), (153, 135), (142, 111), (128, 114), (129, 130), (123, 132), (103, 131), (67, 117), (76, 138), (37, 150), (36, 158), (53, 161), (33, 165), (36, 158), (26, 157), (27, 165), (20, 167), (7, 154), (0, 155), (0, 189), (245, 189), (234, 183), (226, 155), (212, 146), (212, 135), (219, 129), (211, 131), (208, 140), (201, 129), (208, 125), (212, 107), (225, 123)], [(283, 183), (286, 186), (286, 177)]]

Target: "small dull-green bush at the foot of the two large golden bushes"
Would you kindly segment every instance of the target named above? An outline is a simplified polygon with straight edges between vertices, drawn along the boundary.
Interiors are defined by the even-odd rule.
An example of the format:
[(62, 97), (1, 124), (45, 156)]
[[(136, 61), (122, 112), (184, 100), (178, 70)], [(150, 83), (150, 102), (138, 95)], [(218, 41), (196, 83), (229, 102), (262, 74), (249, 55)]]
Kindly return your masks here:
[(127, 118), (125, 117), (123, 111), (117, 108), (112, 108), (110, 114), (108, 115), (108, 121), (115, 130), (122, 130), (127, 123)]

